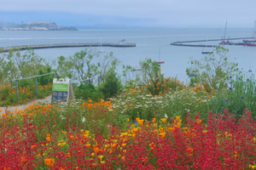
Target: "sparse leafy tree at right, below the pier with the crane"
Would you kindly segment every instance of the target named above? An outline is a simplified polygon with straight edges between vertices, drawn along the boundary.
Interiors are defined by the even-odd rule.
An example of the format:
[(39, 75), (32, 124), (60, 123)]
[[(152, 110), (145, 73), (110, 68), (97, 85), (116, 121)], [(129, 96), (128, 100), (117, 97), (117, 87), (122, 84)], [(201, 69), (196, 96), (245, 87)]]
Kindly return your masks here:
[(216, 47), (213, 54), (209, 54), (201, 60), (190, 60), (191, 68), (187, 68), (187, 75), (195, 74), (190, 79), (193, 83), (206, 83), (213, 89), (226, 86), (228, 77), (234, 76), (238, 71), (237, 63), (228, 56), (229, 49)]

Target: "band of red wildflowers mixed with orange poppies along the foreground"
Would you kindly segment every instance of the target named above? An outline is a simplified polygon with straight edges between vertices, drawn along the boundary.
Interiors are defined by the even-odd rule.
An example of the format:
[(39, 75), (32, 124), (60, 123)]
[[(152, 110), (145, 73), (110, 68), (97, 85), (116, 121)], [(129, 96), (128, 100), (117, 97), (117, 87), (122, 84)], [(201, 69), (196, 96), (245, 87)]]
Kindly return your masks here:
[[(167, 125), (163, 119), (166, 127), (160, 129), (148, 122), (139, 127), (128, 124), (130, 130), (126, 131), (106, 125), (106, 136), (97, 126), (91, 133), (73, 123), (67, 125), (67, 133), (57, 133), (55, 127), (36, 125), (29, 118), (24, 119), (23, 127), (9, 126), (3, 117), (0, 169), (254, 168), (256, 123), (250, 112), (244, 111), (238, 122), (227, 110), (218, 115), (210, 111), (207, 125), (201, 123), (199, 113), (195, 119), (186, 119), (184, 127), (179, 126), (179, 117)], [(40, 132), (42, 126), (48, 126), (51, 133)], [(35, 136), (38, 131), (41, 141)]]

